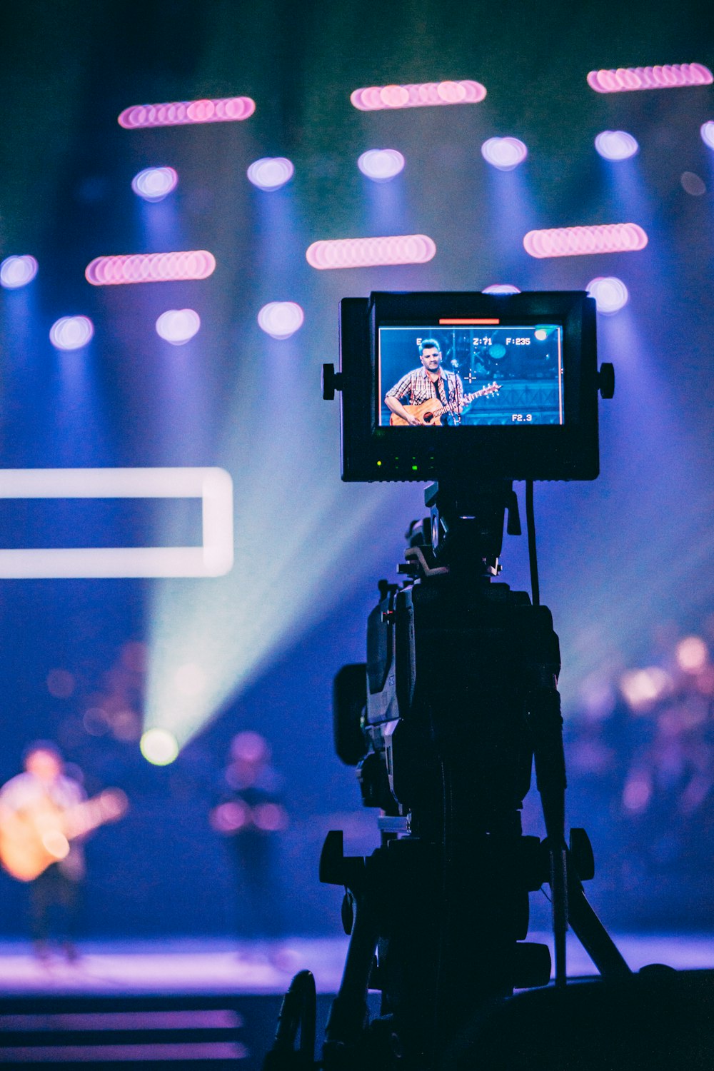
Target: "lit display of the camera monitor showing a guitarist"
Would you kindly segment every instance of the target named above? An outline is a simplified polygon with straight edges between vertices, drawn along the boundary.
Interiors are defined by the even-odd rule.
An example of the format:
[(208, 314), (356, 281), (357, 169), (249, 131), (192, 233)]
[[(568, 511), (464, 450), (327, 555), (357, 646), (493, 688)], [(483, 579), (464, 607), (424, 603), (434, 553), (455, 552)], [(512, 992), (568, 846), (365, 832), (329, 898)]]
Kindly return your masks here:
[(377, 425), (563, 424), (559, 323), (379, 327)]

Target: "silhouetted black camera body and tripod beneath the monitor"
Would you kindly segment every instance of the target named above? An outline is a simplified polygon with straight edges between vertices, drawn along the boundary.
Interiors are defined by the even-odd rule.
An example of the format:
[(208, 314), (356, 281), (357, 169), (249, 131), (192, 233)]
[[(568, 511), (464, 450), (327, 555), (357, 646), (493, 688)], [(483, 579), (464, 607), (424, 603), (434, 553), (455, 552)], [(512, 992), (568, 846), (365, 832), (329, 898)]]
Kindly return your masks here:
[[(527, 508), (532, 531), (532, 485)], [(520, 532), (511, 483), (427, 488), (429, 522), (412, 526), (402, 587), (380, 584), (367, 625), (362, 729), (337, 726), (359, 760), (363, 800), (379, 806), (381, 844), (346, 858), (331, 832), (320, 879), (346, 889), (351, 934), (325, 1030), (330, 1069), (439, 1066), (473, 1015), (514, 989), (545, 985), (550, 953), (526, 941), (529, 892), (548, 883), (556, 984), (565, 984), (568, 922), (602, 975), (629, 969), (589, 905), (584, 830), (564, 838), (565, 765), (550, 612), (492, 583), (503, 523)], [(531, 543), (532, 565), (534, 539)], [(345, 680), (364, 681), (364, 666)], [(351, 711), (351, 713), (350, 713)], [(343, 713), (344, 720), (344, 713)], [(348, 727), (349, 728), (349, 727)], [(341, 737), (340, 737), (341, 733)], [(347, 743), (345, 741), (348, 741)], [(341, 748), (341, 750), (340, 750)], [(535, 760), (546, 840), (523, 835), (520, 809)], [(367, 991), (381, 991), (368, 1023)]]

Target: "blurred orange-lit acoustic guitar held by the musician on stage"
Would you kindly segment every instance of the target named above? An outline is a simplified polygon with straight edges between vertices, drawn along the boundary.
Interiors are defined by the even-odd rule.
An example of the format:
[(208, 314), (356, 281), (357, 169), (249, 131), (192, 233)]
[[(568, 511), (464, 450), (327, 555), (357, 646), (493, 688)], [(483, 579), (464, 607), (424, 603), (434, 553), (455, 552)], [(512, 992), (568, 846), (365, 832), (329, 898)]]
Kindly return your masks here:
[(66, 810), (48, 797), (24, 811), (0, 805), (0, 864), (19, 881), (32, 881), (52, 863), (66, 859), (70, 841), (116, 821), (127, 809), (121, 788), (107, 788)]

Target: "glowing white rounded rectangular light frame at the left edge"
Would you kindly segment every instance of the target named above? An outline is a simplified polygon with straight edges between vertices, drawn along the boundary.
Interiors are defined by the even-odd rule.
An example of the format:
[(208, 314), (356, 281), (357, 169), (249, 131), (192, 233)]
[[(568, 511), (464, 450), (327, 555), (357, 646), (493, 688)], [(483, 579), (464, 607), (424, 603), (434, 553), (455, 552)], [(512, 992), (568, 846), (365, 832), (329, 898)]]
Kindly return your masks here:
[(4, 498), (200, 498), (200, 546), (0, 549), (0, 577), (224, 576), (233, 564), (233, 491), (222, 468), (0, 469)]

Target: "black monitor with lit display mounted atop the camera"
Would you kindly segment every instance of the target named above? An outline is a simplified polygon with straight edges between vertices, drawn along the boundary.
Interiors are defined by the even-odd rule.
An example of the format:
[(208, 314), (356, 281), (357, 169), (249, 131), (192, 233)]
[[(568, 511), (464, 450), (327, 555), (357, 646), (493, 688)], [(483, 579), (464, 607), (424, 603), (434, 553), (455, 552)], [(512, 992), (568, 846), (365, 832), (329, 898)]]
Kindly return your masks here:
[(340, 357), (344, 480), (598, 473), (584, 292), (345, 298)]

